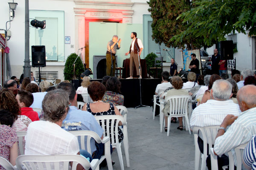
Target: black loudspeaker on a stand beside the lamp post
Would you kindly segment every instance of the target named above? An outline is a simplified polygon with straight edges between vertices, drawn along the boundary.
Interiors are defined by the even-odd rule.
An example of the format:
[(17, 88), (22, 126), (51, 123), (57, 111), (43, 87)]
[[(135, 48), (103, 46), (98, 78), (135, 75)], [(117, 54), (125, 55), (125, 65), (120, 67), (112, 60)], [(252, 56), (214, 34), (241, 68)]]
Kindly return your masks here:
[(32, 67), (45, 67), (45, 46), (44, 45), (32, 45)]

